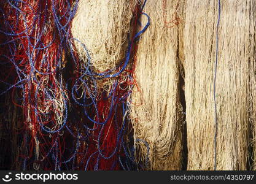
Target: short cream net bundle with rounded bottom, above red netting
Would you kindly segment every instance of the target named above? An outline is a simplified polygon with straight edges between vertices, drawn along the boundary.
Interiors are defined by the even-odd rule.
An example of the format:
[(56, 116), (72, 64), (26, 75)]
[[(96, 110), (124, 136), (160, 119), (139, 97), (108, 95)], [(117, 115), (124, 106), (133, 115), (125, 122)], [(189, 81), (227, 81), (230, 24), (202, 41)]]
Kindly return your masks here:
[[(80, 59), (96, 72), (114, 69), (125, 58), (134, 1), (80, 0), (71, 33)], [(83, 45), (84, 44), (84, 45)]]

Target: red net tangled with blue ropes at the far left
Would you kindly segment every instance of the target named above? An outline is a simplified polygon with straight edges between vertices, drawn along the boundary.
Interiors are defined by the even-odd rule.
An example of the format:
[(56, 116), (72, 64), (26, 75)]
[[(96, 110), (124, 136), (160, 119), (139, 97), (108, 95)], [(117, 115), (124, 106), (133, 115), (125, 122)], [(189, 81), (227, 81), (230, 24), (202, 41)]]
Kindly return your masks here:
[(67, 120), (68, 100), (61, 69), (66, 52), (63, 45), (74, 14), (71, 2), (7, 1), (9, 12), (15, 12), (15, 16), (2, 14), (9, 15), (4, 17), (6, 29), (2, 31), (9, 40), (2, 44), (13, 44), (8, 59), (18, 77), (1, 94), (17, 86), (22, 89), (22, 169), (60, 169), (64, 142), (56, 142)]

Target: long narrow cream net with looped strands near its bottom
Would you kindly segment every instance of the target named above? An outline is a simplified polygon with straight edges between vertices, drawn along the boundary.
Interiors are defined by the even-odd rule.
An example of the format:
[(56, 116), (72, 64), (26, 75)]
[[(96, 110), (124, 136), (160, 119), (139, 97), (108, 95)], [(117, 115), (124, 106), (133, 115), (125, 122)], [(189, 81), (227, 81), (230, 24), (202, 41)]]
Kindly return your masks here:
[[(138, 161), (152, 170), (182, 166), (177, 17), (183, 1), (147, 1), (150, 26), (139, 42), (131, 120)], [(167, 19), (165, 21), (165, 18)], [(170, 19), (170, 20), (168, 20)], [(174, 20), (174, 23), (169, 23)], [(142, 25), (147, 17), (142, 16)], [(139, 140), (139, 141), (138, 141)]]

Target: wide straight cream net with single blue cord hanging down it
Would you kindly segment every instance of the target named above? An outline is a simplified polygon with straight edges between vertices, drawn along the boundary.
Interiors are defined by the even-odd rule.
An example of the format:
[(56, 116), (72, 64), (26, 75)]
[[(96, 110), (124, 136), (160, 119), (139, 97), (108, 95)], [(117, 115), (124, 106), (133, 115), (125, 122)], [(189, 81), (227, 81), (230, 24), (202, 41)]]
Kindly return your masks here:
[[(184, 30), (188, 170), (244, 170), (249, 129), (253, 0), (221, 0), (215, 97), (217, 0), (188, 0)], [(252, 19), (251, 19), (252, 18)], [(254, 27), (253, 27), (254, 29)], [(253, 30), (254, 31), (254, 30)], [(255, 60), (255, 58), (254, 58)], [(216, 145), (216, 149), (215, 149)]]

